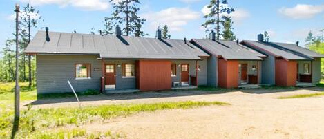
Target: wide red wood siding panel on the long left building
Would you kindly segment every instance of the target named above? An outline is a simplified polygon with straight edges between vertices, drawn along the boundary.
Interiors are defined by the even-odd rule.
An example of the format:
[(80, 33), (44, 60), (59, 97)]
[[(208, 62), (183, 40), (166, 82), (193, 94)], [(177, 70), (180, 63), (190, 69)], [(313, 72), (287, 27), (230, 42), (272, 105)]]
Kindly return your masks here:
[(139, 60), (136, 69), (137, 87), (140, 91), (171, 89), (171, 61)]

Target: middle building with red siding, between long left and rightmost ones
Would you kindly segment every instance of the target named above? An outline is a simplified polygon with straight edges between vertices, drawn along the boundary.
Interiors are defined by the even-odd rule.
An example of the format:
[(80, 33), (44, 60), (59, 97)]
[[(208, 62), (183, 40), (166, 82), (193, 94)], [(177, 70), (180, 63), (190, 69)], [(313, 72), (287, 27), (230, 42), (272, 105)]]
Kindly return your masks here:
[(237, 88), (244, 84), (260, 84), (265, 55), (238, 41), (218, 41), (213, 32), (210, 39), (192, 39), (191, 42), (211, 55), (207, 59), (209, 86)]

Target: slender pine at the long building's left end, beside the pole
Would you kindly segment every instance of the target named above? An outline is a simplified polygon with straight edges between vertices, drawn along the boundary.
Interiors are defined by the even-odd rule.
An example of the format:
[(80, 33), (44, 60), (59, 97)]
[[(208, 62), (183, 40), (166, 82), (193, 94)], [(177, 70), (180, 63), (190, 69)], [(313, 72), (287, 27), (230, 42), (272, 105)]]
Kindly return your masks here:
[[(36, 10), (34, 7), (30, 6), (29, 3), (27, 6), (23, 7), (22, 15), (21, 15), (21, 27), (22, 30), (25, 30), (28, 37), (28, 42), (24, 46), (24, 49), (30, 43), (31, 40), (31, 30), (32, 28), (37, 28), (37, 25), (40, 21), (44, 21), (44, 18), (39, 15), (39, 11)], [(28, 81), (29, 87), (32, 86), (32, 64), (31, 64), (31, 55), (28, 55)]]

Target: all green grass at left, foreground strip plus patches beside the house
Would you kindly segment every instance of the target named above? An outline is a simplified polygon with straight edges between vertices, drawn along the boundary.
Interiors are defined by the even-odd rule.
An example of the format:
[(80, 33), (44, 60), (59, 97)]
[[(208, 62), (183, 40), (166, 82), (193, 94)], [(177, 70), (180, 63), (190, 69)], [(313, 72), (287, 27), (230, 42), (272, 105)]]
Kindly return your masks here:
[[(51, 93), (36, 95), (35, 86), (28, 83), (21, 86), (21, 102), (48, 98), (74, 97), (73, 93)], [(13, 122), (14, 83), (0, 83), (0, 138), (10, 138)], [(97, 95), (98, 91), (85, 91), (79, 95)], [(153, 104), (116, 104), (104, 106), (86, 106), (79, 108), (22, 109), (19, 130), (15, 138), (124, 138), (120, 133), (95, 132), (82, 129), (70, 129), (91, 122), (104, 121), (120, 116), (129, 116), (140, 112), (152, 112), (164, 109), (191, 109), (199, 106), (229, 105), (224, 102), (162, 102)]]

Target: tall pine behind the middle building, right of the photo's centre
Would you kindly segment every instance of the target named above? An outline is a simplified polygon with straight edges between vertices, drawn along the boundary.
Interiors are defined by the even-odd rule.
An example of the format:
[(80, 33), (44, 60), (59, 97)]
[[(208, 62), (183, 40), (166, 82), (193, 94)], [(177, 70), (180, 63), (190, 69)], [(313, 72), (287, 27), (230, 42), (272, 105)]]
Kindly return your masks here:
[(220, 23), (222, 22), (220, 15), (224, 12), (226, 12), (227, 14), (234, 12), (234, 8), (230, 8), (227, 5), (227, 0), (211, 0), (209, 5), (207, 6), (207, 8), (210, 9), (210, 13), (204, 15), (204, 18), (207, 19), (207, 21), (205, 21), (202, 26), (204, 28), (207, 28), (207, 31), (216, 30), (218, 40), (220, 39)]

